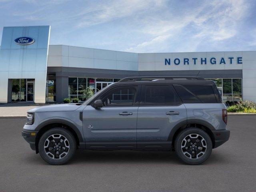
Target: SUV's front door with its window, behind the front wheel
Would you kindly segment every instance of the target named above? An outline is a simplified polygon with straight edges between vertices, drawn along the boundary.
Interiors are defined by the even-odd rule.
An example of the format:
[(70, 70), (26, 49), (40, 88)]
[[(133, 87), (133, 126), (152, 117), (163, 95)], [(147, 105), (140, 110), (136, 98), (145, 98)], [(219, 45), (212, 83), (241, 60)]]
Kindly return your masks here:
[(87, 149), (135, 149), (138, 86), (117, 86), (102, 94), (102, 108), (86, 106), (83, 132)]

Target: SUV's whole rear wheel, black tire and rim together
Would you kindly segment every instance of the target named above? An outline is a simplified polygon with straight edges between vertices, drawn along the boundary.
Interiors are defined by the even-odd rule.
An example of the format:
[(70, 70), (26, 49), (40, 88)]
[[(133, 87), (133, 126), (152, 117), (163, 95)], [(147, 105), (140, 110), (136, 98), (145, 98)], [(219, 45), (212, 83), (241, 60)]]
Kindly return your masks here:
[(176, 137), (174, 148), (176, 155), (184, 163), (198, 165), (212, 153), (212, 140), (204, 130), (186, 128)]

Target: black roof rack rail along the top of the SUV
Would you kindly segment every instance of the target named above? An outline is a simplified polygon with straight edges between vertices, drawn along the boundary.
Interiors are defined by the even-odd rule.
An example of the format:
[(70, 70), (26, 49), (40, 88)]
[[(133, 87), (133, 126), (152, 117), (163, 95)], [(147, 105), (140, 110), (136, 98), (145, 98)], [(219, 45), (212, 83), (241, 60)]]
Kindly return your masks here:
[(188, 79), (188, 80), (204, 80), (202, 77), (184, 77), (184, 76), (148, 76), (148, 77), (126, 77), (121, 79), (119, 82), (128, 81), (147, 81), (147, 80), (158, 80), (158, 79)]

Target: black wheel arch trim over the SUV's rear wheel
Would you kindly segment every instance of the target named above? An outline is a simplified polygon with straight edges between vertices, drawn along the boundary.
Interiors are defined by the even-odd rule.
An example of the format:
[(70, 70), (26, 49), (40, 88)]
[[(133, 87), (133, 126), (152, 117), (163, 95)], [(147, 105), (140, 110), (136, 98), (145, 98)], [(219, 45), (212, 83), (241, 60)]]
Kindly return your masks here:
[(214, 134), (212, 132), (212, 130), (215, 130), (214, 126), (212, 126), (210, 123), (208, 123), (204, 120), (194, 119), (194, 120), (187, 120), (187, 121), (180, 122), (176, 126), (174, 126), (174, 128), (171, 130), (168, 140), (172, 141), (172, 149), (174, 148), (174, 141), (175, 141), (178, 133), (181, 130), (188, 128), (188, 127), (195, 127), (195, 128), (200, 128), (200, 129), (204, 130), (210, 136), (210, 138), (212, 140), (212, 148), (214, 148), (215, 138), (214, 138)]

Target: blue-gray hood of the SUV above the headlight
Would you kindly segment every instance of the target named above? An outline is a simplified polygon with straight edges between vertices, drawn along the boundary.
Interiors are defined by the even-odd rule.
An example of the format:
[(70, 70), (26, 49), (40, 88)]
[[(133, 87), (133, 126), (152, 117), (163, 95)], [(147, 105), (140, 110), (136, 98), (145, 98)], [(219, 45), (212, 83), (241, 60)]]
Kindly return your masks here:
[(81, 105), (70, 104), (53, 104), (47, 106), (40, 106), (28, 110), (28, 112), (58, 112), (58, 111), (74, 111), (80, 108)]

